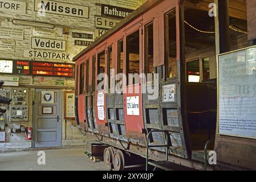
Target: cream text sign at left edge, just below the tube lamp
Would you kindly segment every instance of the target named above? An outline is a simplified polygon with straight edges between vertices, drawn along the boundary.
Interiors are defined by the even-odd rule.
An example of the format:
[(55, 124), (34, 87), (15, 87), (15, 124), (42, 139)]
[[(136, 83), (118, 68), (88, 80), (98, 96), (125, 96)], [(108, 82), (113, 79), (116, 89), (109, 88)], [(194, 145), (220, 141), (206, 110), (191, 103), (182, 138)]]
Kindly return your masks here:
[(0, 27), (0, 38), (1, 39), (15, 39), (15, 40), (23, 40), (24, 37), (24, 29), (13, 26), (4, 26)]

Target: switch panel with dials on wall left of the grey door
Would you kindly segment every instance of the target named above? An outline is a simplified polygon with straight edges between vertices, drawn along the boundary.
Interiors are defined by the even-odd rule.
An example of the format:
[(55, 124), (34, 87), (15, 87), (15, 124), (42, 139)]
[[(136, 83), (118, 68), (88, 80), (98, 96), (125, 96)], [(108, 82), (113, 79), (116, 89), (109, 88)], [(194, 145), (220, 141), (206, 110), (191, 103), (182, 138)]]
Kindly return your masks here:
[(29, 89), (11, 89), (10, 121), (29, 121)]

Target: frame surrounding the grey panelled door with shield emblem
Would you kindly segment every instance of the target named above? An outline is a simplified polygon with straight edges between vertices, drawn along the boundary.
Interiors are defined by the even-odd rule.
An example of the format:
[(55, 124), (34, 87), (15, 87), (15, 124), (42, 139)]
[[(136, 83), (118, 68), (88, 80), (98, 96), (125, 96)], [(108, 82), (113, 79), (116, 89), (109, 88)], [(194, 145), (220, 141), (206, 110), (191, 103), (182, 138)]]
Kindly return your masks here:
[[(40, 147), (35, 147), (35, 121), (36, 121), (36, 117), (35, 117), (35, 94), (36, 94), (36, 90), (39, 89), (44, 89), (44, 88), (35, 88), (32, 89), (33, 92), (33, 96), (32, 96), (32, 148), (40, 148)], [(63, 98), (63, 89), (44, 89), (45, 91), (52, 91), (52, 90), (59, 90), (59, 146), (56, 147), (61, 147), (62, 146), (62, 122), (63, 122), (63, 112), (62, 112), (62, 105), (63, 105), (63, 101), (61, 98)], [(61, 107), (61, 108), (60, 108)]]

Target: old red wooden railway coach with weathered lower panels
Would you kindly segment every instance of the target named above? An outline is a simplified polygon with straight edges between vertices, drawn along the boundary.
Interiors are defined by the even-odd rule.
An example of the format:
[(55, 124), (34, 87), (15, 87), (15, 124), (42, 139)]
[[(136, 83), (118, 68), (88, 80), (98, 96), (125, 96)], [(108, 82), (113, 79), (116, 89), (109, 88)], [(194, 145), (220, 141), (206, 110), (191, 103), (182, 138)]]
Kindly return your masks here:
[[(256, 169), (236, 152), (244, 163), (228, 157), (246, 146), (216, 128), (216, 55), (223, 52), (216, 30), (229, 31), (216, 20), (208, 6), (192, 1), (149, 0), (74, 57), (76, 121), (83, 133), (109, 145), (105, 163), (122, 170), (147, 158), (163, 169), (214, 169), (206, 166), (212, 150), (220, 152), (219, 168)], [(235, 41), (226, 52), (247, 46), (246, 35), (230, 34)], [(247, 151), (255, 148), (254, 141)]]

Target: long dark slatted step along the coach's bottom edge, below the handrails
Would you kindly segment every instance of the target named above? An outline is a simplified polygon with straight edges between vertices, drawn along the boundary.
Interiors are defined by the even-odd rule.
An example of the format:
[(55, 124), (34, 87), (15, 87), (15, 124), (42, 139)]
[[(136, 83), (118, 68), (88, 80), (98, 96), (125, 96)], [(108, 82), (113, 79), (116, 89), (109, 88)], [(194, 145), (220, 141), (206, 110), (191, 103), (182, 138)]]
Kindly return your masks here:
[(148, 164), (160, 169), (164, 169), (165, 171), (196, 171), (196, 169), (189, 168), (186, 166), (181, 166), (180, 164), (176, 164), (166, 160), (164, 161), (149, 160)]

